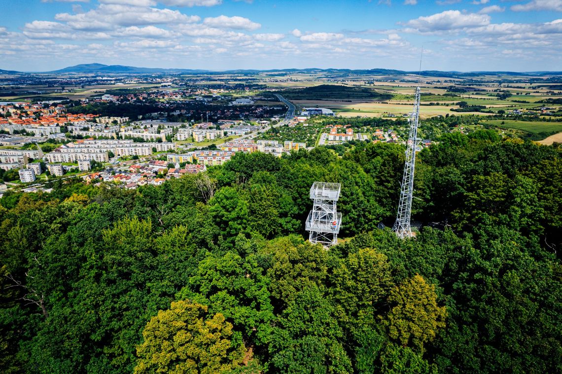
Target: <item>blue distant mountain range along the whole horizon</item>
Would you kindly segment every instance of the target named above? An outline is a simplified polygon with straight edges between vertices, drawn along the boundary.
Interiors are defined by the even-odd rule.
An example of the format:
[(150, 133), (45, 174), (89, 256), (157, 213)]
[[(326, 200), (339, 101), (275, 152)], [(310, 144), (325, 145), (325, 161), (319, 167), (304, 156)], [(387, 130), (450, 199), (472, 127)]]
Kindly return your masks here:
[[(434, 76), (434, 77), (459, 77), (459, 78), (470, 78), (473, 76), (481, 75), (492, 75), (492, 76), (549, 76), (549, 75), (562, 75), (560, 71), (528, 71), (528, 72), (515, 72), (515, 71), (438, 71), (438, 70), (423, 70), (418, 71), (403, 71), (403, 70), (392, 70), (392, 69), (271, 69), (271, 70), (227, 70), (227, 71), (213, 71), (213, 70), (201, 70), (201, 69), (160, 69), (156, 67), (135, 67), (135, 66), (124, 66), (124, 65), (103, 65), (102, 63), (82, 63), (80, 65), (65, 67), (64, 69), (46, 71), (39, 74), (173, 74), (173, 73), (183, 73), (183, 74), (256, 74), (259, 72), (279, 72), (279, 73), (294, 73), (294, 72), (324, 72), (326, 74), (334, 75), (422, 75), (422, 76)], [(0, 74), (33, 74), (18, 71), (8, 71), (1, 70)], [(37, 73), (36, 73), (37, 74)]]

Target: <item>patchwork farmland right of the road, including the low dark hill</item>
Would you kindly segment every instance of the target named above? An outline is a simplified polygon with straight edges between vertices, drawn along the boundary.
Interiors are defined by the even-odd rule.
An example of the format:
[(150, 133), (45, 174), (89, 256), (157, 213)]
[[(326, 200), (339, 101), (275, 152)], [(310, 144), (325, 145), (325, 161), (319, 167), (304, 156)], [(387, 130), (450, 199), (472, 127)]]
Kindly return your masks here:
[[(285, 77), (284, 77), (285, 78)], [(476, 77), (482, 79), (483, 84), (474, 86), (457, 83), (444, 79), (424, 78), (421, 82), (398, 81), (388, 79), (380, 81), (376, 77), (370, 81), (366, 77), (349, 77), (341, 83), (334, 79), (323, 79), (319, 75), (306, 80), (303, 75), (294, 75), (294, 80), (269, 83), (270, 88), (285, 88), (280, 90), (286, 98), (300, 107), (325, 107), (333, 110), (342, 117), (381, 117), (387, 115), (402, 116), (411, 111), (416, 86), (421, 86), (422, 108), (420, 115), (428, 118), (437, 115), (465, 115), (476, 114), (488, 116), (498, 111), (538, 111), (541, 107), (553, 108), (557, 111), (560, 104), (540, 103), (548, 98), (558, 98), (561, 92), (555, 92), (552, 85), (514, 84), (501, 85), (493, 81), (493, 77)], [(343, 85), (342, 85), (343, 84)], [(369, 91), (370, 90), (370, 91)], [(374, 92), (378, 97), (370, 97)], [(500, 98), (498, 95), (504, 95)], [(467, 106), (481, 106), (482, 111), (473, 108), (471, 112), (455, 112), (457, 103), (465, 102)], [(424, 103), (426, 104), (424, 106)], [(430, 106), (427, 104), (431, 104)], [(434, 105), (433, 105), (434, 104)], [(471, 109), (471, 108), (469, 108)]]

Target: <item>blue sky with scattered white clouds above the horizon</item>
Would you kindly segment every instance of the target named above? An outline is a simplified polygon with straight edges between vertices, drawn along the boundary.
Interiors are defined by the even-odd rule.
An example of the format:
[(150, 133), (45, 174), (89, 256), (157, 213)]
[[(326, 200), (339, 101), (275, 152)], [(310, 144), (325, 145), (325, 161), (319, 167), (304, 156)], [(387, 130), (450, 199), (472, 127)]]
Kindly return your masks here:
[(0, 0), (0, 69), (561, 71), (562, 0)]

